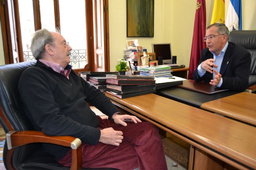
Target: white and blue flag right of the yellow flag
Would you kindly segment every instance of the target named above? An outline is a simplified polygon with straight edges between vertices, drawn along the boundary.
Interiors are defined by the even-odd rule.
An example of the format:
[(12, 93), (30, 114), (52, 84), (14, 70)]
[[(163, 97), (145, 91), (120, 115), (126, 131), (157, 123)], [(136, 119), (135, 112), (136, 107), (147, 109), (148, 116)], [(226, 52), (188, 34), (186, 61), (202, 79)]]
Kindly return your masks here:
[(242, 1), (230, 0), (225, 21), (229, 31), (242, 30)]

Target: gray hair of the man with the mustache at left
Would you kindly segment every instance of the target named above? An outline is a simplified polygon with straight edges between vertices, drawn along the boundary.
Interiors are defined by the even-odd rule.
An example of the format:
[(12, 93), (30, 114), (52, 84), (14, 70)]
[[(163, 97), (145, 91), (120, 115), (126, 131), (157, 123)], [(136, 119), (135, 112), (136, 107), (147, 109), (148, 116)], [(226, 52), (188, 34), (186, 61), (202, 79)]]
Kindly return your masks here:
[(42, 59), (45, 53), (45, 45), (53, 43), (54, 38), (47, 29), (36, 31), (31, 40), (31, 52), (36, 60)]

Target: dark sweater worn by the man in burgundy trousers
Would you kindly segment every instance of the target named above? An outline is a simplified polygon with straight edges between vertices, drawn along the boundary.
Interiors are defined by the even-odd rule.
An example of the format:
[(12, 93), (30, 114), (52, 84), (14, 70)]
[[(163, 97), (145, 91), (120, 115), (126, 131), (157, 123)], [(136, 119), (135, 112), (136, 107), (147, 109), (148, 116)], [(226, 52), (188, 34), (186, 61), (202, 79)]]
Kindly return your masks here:
[[(37, 61), (27, 68), (18, 84), (24, 111), (36, 131), (50, 136), (72, 136), (96, 145), (100, 139), (99, 122), (88, 102), (112, 117), (118, 109), (100, 90), (90, 86), (73, 70), (69, 79)], [(60, 160), (70, 148), (43, 144)]]

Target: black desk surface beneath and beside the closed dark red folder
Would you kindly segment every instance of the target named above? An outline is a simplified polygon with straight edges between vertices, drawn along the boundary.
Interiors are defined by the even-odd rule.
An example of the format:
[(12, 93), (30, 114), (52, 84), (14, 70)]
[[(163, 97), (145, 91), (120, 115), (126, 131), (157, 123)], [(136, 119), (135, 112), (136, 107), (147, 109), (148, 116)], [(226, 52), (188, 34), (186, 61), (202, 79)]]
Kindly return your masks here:
[(210, 102), (212, 100), (224, 98), (226, 96), (231, 96), (233, 94), (238, 94), (241, 91), (223, 91), (215, 94), (203, 94), (199, 92), (195, 92), (192, 90), (187, 90), (184, 88), (178, 88), (178, 87), (169, 87), (169, 88), (163, 88), (156, 90), (156, 94), (159, 96), (163, 96), (172, 100), (176, 100), (178, 102), (188, 104), (190, 106), (198, 107), (205, 103)]

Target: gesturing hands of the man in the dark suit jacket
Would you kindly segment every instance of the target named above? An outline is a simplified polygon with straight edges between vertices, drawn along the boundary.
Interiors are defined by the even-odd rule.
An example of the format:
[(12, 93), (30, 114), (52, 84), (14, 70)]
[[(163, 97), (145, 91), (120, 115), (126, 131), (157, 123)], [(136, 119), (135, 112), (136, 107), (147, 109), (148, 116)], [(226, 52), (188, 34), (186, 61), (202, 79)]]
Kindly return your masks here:
[(221, 80), (221, 74), (218, 73), (217, 70), (213, 69), (213, 67), (217, 68), (218, 66), (216, 64), (214, 64), (215, 59), (207, 59), (206, 61), (202, 62), (201, 64), (201, 68), (212, 73), (212, 71), (214, 71), (215, 75), (214, 75), (214, 79), (211, 80), (209, 83), (212, 86), (217, 86), (220, 83)]

